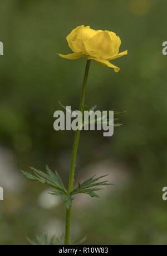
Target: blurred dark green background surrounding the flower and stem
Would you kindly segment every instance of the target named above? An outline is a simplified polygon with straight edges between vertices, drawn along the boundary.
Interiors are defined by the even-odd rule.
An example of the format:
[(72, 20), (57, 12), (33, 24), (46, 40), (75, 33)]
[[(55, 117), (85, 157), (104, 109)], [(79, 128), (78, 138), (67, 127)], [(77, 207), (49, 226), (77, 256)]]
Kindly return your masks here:
[(111, 138), (81, 134), (76, 182), (109, 173), (117, 186), (76, 197), (72, 237), (85, 244), (167, 244), (167, 57), (165, 0), (6, 0), (0, 2), (0, 244), (28, 244), (42, 231), (60, 236), (61, 198), (19, 169), (56, 169), (67, 184), (73, 131), (53, 130), (53, 112), (78, 109), (86, 59), (65, 60), (78, 25), (116, 32), (119, 73), (91, 61), (86, 103), (126, 111)]

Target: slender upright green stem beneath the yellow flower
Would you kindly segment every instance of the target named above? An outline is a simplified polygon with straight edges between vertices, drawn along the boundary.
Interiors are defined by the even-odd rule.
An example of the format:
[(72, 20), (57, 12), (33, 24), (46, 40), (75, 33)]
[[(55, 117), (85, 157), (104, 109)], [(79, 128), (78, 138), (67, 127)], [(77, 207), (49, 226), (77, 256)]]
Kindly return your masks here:
[[(85, 74), (84, 74), (84, 81), (83, 81), (83, 85), (82, 85), (82, 94), (81, 94), (81, 100), (80, 100), (81, 113), (84, 112), (86, 83), (87, 83), (87, 77), (88, 77), (88, 73), (89, 73), (90, 61), (91, 60), (87, 60)], [(81, 133), (80, 130), (76, 130), (75, 137), (73, 140), (70, 173), (69, 173), (69, 179), (68, 179), (68, 194), (73, 190), (74, 174), (75, 174), (75, 167), (76, 167), (76, 157), (77, 157), (78, 143), (80, 140), (80, 133)], [(71, 224), (71, 206), (68, 209), (66, 209), (65, 244), (70, 244), (70, 224)]]

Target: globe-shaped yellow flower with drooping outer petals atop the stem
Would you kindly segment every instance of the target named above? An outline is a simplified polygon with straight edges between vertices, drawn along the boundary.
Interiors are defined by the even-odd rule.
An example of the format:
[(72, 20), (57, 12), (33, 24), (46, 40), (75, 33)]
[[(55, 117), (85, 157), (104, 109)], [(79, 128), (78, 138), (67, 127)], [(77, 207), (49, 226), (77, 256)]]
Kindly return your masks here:
[(114, 68), (119, 72), (120, 68), (109, 61), (127, 54), (127, 51), (119, 53), (121, 39), (114, 32), (107, 30), (93, 30), (90, 26), (77, 26), (66, 37), (72, 54), (58, 54), (65, 59), (87, 59), (96, 60), (99, 64)]

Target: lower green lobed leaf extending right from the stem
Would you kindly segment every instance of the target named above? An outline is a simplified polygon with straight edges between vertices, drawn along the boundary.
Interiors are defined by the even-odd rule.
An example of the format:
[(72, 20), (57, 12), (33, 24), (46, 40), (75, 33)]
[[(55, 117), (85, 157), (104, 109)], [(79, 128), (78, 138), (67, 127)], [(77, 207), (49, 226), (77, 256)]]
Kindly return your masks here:
[(71, 191), (70, 195), (75, 195), (78, 193), (86, 193), (90, 195), (91, 197), (99, 197), (95, 191), (99, 191), (103, 188), (99, 188), (97, 186), (106, 186), (106, 185), (114, 185), (112, 183), (107, 183), (108, 181), (102, 181), (97, 182), (99, 179), (106, 177), (107, 175), (103, 175), (97, 178), (94, 178), (95, 176), (92, 176), (90, 179), (86, 179), (86, 181), (82, 182), (81, 184), (78, 183), (78, 186)]

